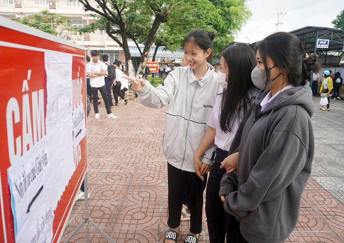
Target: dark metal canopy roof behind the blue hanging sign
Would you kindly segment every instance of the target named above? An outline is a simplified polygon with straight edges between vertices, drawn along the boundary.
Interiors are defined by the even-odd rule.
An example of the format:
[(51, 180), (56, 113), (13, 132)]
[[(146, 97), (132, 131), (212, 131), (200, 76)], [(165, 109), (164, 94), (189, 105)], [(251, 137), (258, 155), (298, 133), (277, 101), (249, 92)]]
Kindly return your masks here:
[[(301, 29), (290, 31), (289, 33), (299, 37), (299, 39), (302, 41), (305, 51), (309, 53), (316, 54), (321, 52), (337, 52), (343, 50), (344, 30), (327, 27), (306, 26)], [(330, 40), (329, 48), (316, 48), (318, 39)]]

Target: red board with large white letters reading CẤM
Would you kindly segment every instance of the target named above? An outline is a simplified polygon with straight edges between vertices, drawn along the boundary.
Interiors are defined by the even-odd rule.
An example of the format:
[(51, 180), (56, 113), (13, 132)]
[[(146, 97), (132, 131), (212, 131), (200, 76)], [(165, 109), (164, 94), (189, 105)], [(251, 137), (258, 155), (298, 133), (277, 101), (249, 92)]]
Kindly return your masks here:
[[(18, 161), (26, 151), (30, 151), (37, 138), (36, 117), (31, 105), (37, 92), (43, 92), (44, 119), (47, 114), (47, 74), (45, 53), (71, 56), (72, 60), (72, 107), (75, 110), (84, 104), (86, 114), (85, 48), (50, 34), (24, 26), (0, 16), (0, 54), (1, 54), (1, 99), (0, 129), (3, 143), (0, 149), (0, 242), (13, 243), (14, 226), (7, 169)], [(50, 64), (47, 64), (50, 66)], [(31, 71), (28, 71), (31, 70)], [(30, 76), (30, 77), (29, 77)], [(9, 110), (9, 102), (18, 104)], [(27, 103), (29, 101), (29, 106)], [(30, 107), (24, 112), (23, 107)], [(80, 108), (80, 107), (79, 107)], [(37, 115), (37, 113), (36, 113)], [(26, 119), (26, 120), (25, 120)], [(43, 119), (43, 118), (42, 118)], [(31, 128), (25, 127), (23, 122)], [(86, 118), (85, 118), (86, 123)], [(46, 125), (46, 124), (45, 124)], [(45, 126), (44, 126), (45, 127)], [(25, 130), (25, 131), (24, 131)], [(31, 134), (28, 134), (30, 131)], [(44, 131), (45, 136), (46, 130)], [(25, 133), (25, 134), (24, 134)], [(75, 136), (74, 134), (73, 136)], [(24, 139), (25, 136), (25, 139)], [(24, 140), (32, 137), (34, 144), (24, 145)], [(52, 242), (60, 240), (68, 216), (72, 210), (76, 193), (85, 176), (87, 168), (86, 136), (73, 148), (75, 171), (54, 210)]]

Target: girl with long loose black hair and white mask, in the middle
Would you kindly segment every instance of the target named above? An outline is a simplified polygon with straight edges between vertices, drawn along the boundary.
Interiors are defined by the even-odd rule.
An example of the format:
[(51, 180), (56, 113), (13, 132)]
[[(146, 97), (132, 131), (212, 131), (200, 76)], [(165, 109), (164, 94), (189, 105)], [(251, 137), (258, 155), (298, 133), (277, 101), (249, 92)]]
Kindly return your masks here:
[(216, 96), (212, 113), (202, 141), (195, 155), (195, 171), (201, 176), (201, 156), (213, 144), (217, 146), (206, 190), (205, 213), (207, 216), (210, 243), (237, 242), (239, 222), (223, 208), (219, 198), (222, 176), (236, 169), (237, 164), (228, 157), (228, 151), (241, 120), (253, 103), (259, 89), (251, 79), (256, 65), (256, 56), (247, 44), (231, 45), (222, 52), (217, 81), (223, 87)]

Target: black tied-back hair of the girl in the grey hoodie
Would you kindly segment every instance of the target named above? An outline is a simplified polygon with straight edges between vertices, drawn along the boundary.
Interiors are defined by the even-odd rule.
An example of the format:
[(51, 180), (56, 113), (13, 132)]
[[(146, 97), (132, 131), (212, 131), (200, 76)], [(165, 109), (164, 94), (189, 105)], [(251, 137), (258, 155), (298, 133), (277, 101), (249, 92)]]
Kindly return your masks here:
[(315, 55), (307, 57), (301, 40), (294, 34), (287, 32), (273, 33), (264, 40), (259, 41), (256, 47), (264, 63), (266, 82), (270, 79), (266, 61), (267, 56), (282, 71), (286, 81), (295, 87), (306, 84), (309, 72), (318, 73), (320, 70), (317, 57)]

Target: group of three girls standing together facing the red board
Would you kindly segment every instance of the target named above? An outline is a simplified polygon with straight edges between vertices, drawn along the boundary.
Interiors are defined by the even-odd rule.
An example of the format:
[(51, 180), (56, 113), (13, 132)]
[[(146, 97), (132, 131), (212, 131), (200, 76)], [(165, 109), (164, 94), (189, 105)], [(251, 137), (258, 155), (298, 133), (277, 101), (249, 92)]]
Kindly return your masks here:
[(185, 193), (191, 219), (184, 242), (198, 242), (207, 181), (211, 243), (284, 242), (311, 173), (314, 105), (306, 80), (320, 66), (298, 37), (278, 32), (258, 42), (256, 53), (246, 44), (226, 48), (215, 73), (206, 62), (214, 38), (191, 30), (183, 42), (189, 65), (170, 72), (164, 86), (125, 77), (140, 103), (168, 106), (162, 148), (171, 229), (164, 241), (178, 241)]

